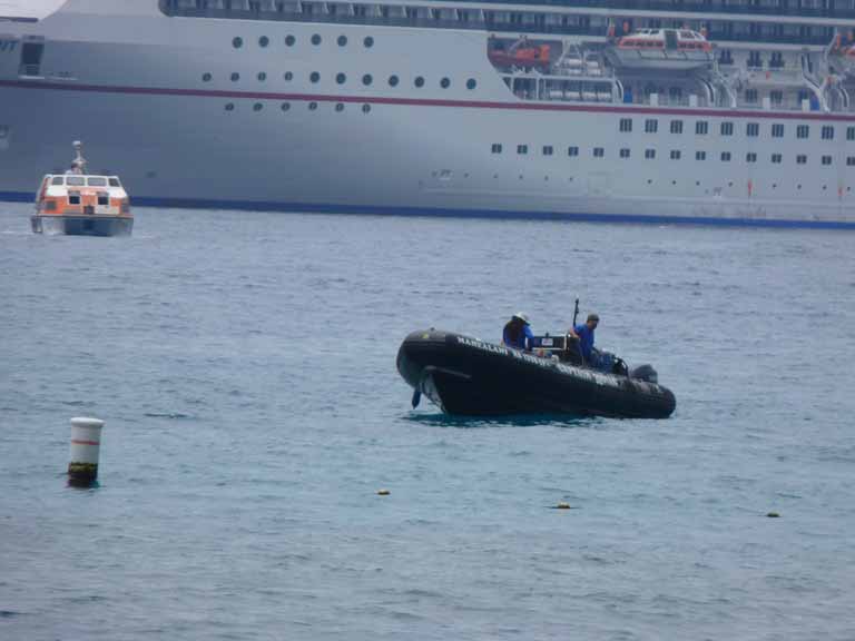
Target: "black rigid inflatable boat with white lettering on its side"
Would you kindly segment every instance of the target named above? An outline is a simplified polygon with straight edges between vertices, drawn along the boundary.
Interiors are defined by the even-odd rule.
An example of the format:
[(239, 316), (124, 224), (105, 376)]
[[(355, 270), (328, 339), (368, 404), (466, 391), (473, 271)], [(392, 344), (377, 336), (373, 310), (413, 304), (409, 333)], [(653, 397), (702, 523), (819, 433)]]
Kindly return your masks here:
[(535, 347), (532, 354), (449, 332), (413, 332), (397, 352), (397, 371), (414, 389), (414, 406), (424, 394), (449, 414), (665, 418), (674, 412), (674, 394), (649, 365), (630, 372), (617, 358), (611, 372), (582, 366), (566, 336), (537, 337)]

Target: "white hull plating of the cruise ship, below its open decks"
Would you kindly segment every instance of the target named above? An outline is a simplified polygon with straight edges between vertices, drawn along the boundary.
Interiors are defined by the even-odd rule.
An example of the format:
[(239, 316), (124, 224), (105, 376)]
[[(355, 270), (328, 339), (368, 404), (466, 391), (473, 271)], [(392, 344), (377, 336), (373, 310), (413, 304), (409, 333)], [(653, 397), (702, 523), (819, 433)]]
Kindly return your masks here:
[[(4, 31), (0, 40), (19, 47), (45, 39), (37, 77), (0, 49), (6, 199), (31, 199), (80, 139), (137, 205), (855, 227), (855, 142), (845, 135), (854, 118), (525, 102), (490, 65), (485, 32), (167, 18), (148, 0), (72, 0)], [(627, 118), (633, 131), (621, 134)], [(647, 119), (657, 135), (645, 132)], [(680, 135), (668, 132), (675, 119)], [(710, 135), (695, 135), (698, 120)], [(748, 120), (766, 134), (714, 135)], [(770, 138), (773, 122), (785, 138)], [(809, 144), (795, 139), (798, 124), (816, 130)], [(819, 140), (828, 124), (836, 137)], [(809, 168), (797, 152), (810, 155)], [(759, 161), (746, 165), (747, 154)]]

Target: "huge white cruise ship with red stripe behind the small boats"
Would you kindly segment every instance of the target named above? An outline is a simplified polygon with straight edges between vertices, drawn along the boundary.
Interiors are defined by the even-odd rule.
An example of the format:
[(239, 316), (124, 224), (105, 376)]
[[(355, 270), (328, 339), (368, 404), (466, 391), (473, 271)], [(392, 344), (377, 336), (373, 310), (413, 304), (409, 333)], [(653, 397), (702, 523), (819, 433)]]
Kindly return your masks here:
[(0, 198), (855, 229), (855, 0), (0, 2)]

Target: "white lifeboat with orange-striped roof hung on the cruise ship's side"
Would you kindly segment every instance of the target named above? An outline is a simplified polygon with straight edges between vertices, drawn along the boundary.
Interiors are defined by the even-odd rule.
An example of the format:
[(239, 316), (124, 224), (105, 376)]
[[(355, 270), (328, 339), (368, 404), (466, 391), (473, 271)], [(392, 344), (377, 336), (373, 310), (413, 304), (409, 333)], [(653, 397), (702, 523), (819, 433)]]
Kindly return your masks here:
[(640, 29), (606, 49), (615, 66), (629, 71), (694, 71), (712, 65), (712, 43), (689, 29)]

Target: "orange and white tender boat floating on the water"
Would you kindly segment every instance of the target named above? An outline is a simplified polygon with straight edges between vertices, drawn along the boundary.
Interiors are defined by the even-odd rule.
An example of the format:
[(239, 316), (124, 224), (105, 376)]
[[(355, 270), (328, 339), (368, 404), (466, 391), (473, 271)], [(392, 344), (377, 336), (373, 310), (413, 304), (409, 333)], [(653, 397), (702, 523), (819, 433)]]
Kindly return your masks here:
[(130, 199), (118, 176), (90, 175), (82, 145), (65, 174), (42, 178), (31, 216), (36, 234), (129, 236), (134, 228)]

